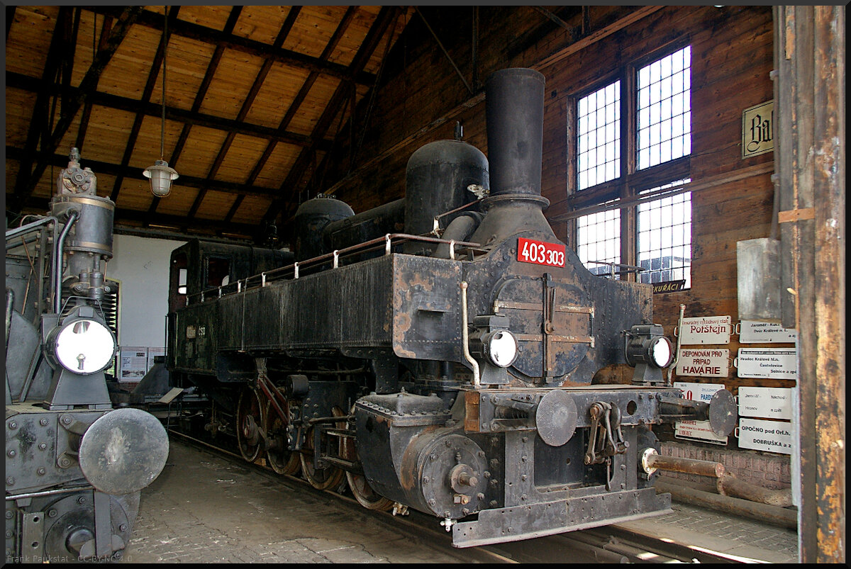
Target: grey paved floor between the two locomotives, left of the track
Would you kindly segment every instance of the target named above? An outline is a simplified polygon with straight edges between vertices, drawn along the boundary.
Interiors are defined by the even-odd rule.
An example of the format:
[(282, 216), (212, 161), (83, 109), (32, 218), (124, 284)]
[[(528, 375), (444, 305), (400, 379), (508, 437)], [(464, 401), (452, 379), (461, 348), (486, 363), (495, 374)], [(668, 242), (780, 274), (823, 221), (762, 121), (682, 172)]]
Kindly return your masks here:
[[(174, 438), (170, 447), (163, 473), (141, 493), (124, 562), (459, 562), (334, 496)], [(448, 540), (443, 549), (452, 549)]]

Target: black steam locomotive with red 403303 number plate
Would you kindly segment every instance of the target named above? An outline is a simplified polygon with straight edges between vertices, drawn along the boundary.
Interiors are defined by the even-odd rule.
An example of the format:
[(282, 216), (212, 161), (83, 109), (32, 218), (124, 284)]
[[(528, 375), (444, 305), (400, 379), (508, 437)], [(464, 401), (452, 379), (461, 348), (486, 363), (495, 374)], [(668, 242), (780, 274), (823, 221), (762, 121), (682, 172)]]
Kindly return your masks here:
[[(537, 71), (494, 73), (489, 161), (456, 136), (414, 152), (403, 200), (305, 202), (290, 257), (176, 249), (167, 366), (213, 401), (205, 428), (317, 488), (345, 476), (367, 508), (435, 515), (456, 547), (670, 508), (649, 426), (730, 430), (730, 401), (666, 386), (649, 285), (591, 275), (554, 235), (543, 94)], [(594, 383), (624, 363), (632, 384)]]

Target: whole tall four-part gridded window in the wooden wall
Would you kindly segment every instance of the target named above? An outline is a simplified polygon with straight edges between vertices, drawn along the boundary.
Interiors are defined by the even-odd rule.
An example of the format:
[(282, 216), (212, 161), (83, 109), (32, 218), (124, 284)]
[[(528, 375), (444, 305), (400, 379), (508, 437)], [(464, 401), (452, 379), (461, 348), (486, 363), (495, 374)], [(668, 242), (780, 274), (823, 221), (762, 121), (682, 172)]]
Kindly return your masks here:
[(574, 99), (571, 200), (578, 213), (593, 208), (576, 217), (576, 251), (597, 275), (611, 268), (593, 261), (632, 265), (642, 270), (631, 280), (688, 288), (691, 194), (680, 188), (690, 181), (691, 48), (627, 65), (620, 76)]

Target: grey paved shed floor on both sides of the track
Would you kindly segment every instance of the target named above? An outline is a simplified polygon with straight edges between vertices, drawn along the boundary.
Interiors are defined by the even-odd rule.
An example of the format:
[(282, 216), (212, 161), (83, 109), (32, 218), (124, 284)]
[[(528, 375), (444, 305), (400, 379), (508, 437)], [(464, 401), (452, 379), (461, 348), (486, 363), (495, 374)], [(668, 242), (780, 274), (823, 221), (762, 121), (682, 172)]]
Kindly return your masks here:
[[(412, 537), (397, 523), (397, 518), (375, 519), (334, 495), (248, 469), (173, 437), (163, 473), (141, 492), (139, 516), (124, 560), (461, 562), (458, 552), (464, 550), (453, 549), (448, 535), (443, 541), (426, 535)], [(437, 527), (437, 519), (434, 523)], [(797, 562), (794, 530), (688, 504), (675, 502), (668, 514), (620, 525), (757, 562)]]

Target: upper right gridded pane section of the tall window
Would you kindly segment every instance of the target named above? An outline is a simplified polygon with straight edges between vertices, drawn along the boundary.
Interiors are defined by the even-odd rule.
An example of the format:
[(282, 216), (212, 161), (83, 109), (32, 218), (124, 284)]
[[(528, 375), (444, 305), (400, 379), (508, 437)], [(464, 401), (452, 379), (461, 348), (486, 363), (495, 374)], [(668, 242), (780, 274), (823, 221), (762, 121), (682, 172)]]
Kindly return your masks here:
[(688, 46), (638, 70), (638, 169), (691, 153), (690, 69)]

